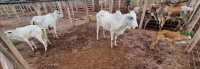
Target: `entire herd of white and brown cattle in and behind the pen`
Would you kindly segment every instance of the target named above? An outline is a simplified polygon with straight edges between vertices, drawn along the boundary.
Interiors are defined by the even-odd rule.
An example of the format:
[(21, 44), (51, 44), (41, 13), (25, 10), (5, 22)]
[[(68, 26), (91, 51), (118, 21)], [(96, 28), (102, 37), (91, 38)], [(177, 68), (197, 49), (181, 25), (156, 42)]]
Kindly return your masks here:
[[(137, 18), (141, 17), (143, 7), (135, 7), (130, 13), (122, 14), (121, 11), (117, 10), (115, 13), (109, 13), (108, 11), (101, 10), (96, 14), (96, 33), (97, 40), (99, 34), (99, 27), (103, 27), (103, 36), (105, 38), (105, 31), (110, 31), (111, 36), (111, 48), (117, 46), (116, 40), (117, 37), (124, 33), (126, 29), (137, 29), (138, 23)], [(167, 20), (178, 21), (178, 27), (181, 25), (185, 25), (187, 23), (188, 17), (192, 12), (192, 8), (186, 5), (186, 2), (176, 2), (176, 3), (152, 3), (148, 4), (147, 12), (145, 13), (146, 22), (144, 28), (150, 19), (155, 19), (159, 23), (160, 31), (158, 31), (155, 39), (149, 45), (150, 49), (153, 49), (154, 45), (158, 40), (167, 39), (171, 41), (171, 46), (173, 48), (174, 44), (178, 43), (190, 43), (190, 36), (181, 35), (180, 32), (172, 32), (169, 30), (161, 30), (163, 25)], [(54, 38), (58, 38), (56, 33), (56, 22), (58, 19), (62, 18), (63, 15), (60, 11), (55, 10), (52, 13), (42, 15), (42, 16), (34, 16), (30, 21), (31, 25), (27, 25), (24, 27), (16, 28), (13, 30), (5, 31), (4, 33), (10, 39), (17, 39), (20, 41), (25, 41), (31, 47), (32, 51), (35, 46), (33, 39), (38, 39), (45, 47), (45, 51), (47, 51), (47, 42), (51, 44), (47, 37), (46, 30), (53, 29)]]

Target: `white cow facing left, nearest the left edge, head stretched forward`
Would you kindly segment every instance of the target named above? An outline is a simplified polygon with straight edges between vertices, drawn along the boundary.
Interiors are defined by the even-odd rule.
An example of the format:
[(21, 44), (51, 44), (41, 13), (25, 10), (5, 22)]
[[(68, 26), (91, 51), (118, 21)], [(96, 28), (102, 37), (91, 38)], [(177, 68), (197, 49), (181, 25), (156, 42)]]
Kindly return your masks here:
[(10, 39), (17, 39), (19, 41), (27, 42), (32, 51), (34, 51), (33, 46), (35, 47), (35, 49), (37, 49), (33, 42), (33, 39), (31, 39), (34, 37), (44, 45), (45, 51), (47, 51), (47, 35), (44, 33), (44, 30), (42, 30), (37, 25), (28, 25), (13, 30), (8, 30), (4, 33)]

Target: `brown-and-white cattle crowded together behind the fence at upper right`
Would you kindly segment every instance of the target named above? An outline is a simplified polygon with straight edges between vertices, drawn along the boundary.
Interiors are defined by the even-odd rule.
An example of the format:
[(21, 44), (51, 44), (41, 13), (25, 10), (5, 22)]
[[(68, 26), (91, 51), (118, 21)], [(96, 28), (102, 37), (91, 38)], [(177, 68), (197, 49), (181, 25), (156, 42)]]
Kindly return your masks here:
[[(135, 7), (138, 17), (141, 17), (143, 7)], [(163, 28), (163, 25), (167, 21), (178, 22), (175, 30), (182, 30), (186, 28), (186, 24), (191, 12), (192, 7), (187, 6), (187, 2), (178, 0), (177, 2), (160, 2), (160, 3), (148, 3), (144, 28), (151, 19), (154, 19), (159, 24), (159, 30)], [(153, 17), (152, 17), (153, 16)]]

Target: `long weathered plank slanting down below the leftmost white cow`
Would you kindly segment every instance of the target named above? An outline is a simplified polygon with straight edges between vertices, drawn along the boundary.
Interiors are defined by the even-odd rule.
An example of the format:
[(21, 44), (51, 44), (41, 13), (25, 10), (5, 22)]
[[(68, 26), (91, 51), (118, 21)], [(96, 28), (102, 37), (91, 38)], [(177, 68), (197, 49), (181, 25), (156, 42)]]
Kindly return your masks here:
[(0, 37), (2, 41), (5, 43), (5, 45), (8, 47), (8, 50), (10, 50), (12, 54), (16, 57), (16, 59), (18, 60), (17, 62), (22, 64), (22, 66), (24, 67), (23, 69), (30, 69), (27, 62), (24, 60), (21, 54), (17, 51), (15, 46), (12, 44), (12, 42), (6, 37), (2, 29), (0, 29)]

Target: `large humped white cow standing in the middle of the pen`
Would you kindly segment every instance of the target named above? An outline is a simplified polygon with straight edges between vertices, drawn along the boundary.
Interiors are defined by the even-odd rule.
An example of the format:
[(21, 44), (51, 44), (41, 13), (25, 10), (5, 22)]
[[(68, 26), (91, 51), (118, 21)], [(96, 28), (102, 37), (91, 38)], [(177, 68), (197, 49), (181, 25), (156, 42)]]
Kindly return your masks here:
[(130, 11), (128, 14), (122, 15), (120, 11), (116, 11), (114, 14), (108, 11), (101, 10), (96, 14), (97, 18), (97, 40), (99, 27), (103, 27), (103, 36), (105, 38), (104, 30), (110, 31), (111, 35), (111, 48), (113, 47), (113, 39), (115, 39), (115, 46), (117, 46), (116, 39), (119, 35), (123, 34), (126, 28), (131, 27), (135, 29), (138, 27), (136, 14), (134, 11)]

